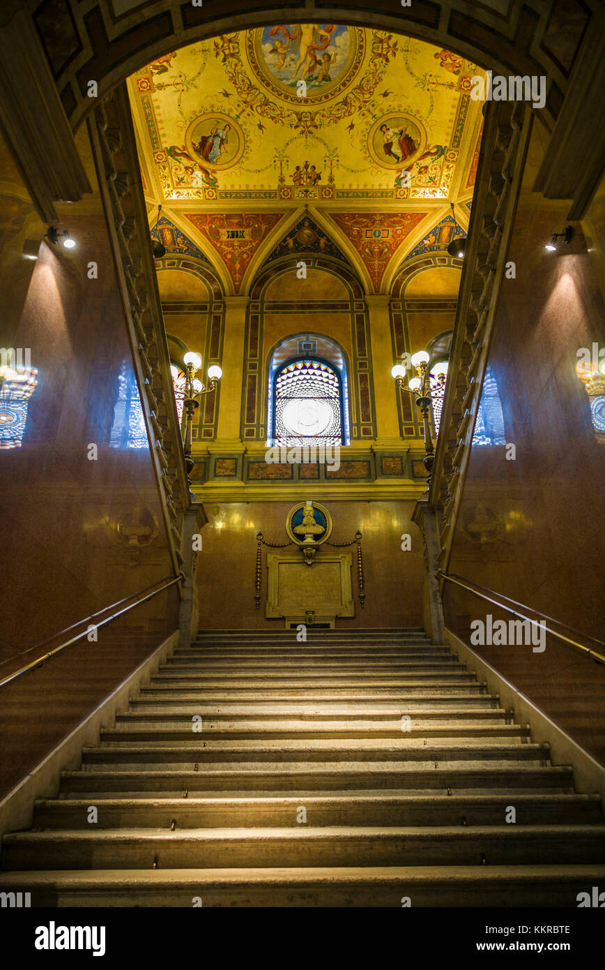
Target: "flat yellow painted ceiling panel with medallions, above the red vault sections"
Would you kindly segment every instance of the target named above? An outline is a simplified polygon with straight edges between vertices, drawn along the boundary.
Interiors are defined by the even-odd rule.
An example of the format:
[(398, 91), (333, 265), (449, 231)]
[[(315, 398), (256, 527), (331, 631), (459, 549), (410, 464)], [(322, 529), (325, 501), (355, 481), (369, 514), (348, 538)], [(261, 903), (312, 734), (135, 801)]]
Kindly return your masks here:
[(190, 45), (129, 80), (147, 194), (231, 210), (469, 197), (477, 74), (450, 51), (341, 24)]

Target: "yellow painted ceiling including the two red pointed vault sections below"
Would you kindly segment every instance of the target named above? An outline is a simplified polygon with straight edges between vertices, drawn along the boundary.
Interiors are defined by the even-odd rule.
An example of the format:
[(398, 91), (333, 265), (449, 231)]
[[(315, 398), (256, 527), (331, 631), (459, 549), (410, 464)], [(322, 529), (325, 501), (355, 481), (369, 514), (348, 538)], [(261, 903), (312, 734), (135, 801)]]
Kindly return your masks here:
[(384, 289), (451, 203), (468, 225), (480, 73), (447, 50), (338, 24), (169, 52), (128, 82), (150, 222), (161, 204), (172, 236), (237, 293), (309, 216), (368, 291)]

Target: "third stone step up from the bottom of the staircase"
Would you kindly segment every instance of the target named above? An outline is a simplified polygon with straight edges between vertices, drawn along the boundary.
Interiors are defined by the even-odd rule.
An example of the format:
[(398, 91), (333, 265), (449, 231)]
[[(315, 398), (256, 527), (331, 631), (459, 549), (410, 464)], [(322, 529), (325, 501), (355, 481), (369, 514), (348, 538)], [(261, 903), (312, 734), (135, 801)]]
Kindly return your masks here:
[[(510, 810), (505, 794), (313, 794), (304, 798), (313, 825), (497, 825)], [(603, 824), (598, 795), (516, 794), (518, 824)], [(46, 798), (36, 802), (34, 828), (88, 829), (87, 798)], [(103, 799), (98, 828), (212, 828), (297, 824), (301, 799), (123, 798)]]

